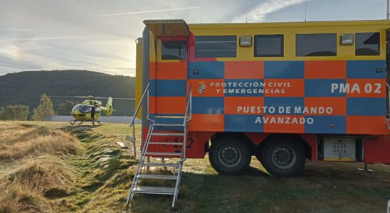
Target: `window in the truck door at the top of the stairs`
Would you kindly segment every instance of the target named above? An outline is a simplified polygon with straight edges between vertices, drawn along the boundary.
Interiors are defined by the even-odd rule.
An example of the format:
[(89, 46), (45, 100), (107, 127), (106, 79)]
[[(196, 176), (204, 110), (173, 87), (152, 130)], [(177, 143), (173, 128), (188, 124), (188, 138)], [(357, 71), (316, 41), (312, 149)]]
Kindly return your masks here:
[(168, 59), (186, 59), (187, 42), (185, 40), (162, 40), (161, 58)]

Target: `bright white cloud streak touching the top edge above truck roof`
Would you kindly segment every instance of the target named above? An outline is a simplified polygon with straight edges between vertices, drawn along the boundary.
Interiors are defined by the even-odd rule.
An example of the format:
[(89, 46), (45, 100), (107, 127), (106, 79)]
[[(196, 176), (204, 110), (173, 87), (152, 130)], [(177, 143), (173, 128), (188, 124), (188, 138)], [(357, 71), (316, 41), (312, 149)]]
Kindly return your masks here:
[(265, 21), (265, 16), (269, 13), (279, 11), (285, 7), (292, 6), (294, 4), (300, 4), (308, 0), (271, 0), (266, 1), (262, 4), (259, 4), (255, 9), (244, 13), (241, 16), (233, 18), (232, 22), (245, 22), (245, 21), (256, 21), (261, 22)]

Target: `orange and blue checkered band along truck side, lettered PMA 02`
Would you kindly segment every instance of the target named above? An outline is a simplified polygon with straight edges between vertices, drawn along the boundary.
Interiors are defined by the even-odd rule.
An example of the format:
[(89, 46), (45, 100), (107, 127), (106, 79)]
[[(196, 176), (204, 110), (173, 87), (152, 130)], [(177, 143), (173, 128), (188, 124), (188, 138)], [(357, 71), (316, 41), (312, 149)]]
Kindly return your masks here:
[(191, 131), (388, 133), (384, 60), (159, 62), (154, 69), (150, 113), (184, 114), (192, 84)]

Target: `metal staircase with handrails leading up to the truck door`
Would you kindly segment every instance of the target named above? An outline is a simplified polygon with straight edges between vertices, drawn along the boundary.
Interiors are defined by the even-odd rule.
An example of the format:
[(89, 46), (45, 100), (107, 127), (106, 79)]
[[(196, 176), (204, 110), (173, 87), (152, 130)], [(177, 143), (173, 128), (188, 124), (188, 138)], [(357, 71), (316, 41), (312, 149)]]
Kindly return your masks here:
[[(192, 99), (192, 86), (189, 89), (189, 96), (186, 99), (186, 112), (183, 116), (154, 116), (154, 119), (164, 119), (166, 123), (159, 122), (157, 120), (149, 119), (149, 84), (147, 84), (147, 88), (142, 94), (142, 98), (139, 102), (139, 105), (135, 111), (135, 115), (130, 122), (130, 126), (132, 126), (133, 136), (135, 136), (135, 127), (134, 120), (137, 115), (140, 105), (142, 104), (144, 97), (147, 97), (147, 121), (150, 122), (149, 131), (147, 133), (147, 137), (145, 139), (145, 143), (142, 146), (141, 156), (139, 159), (139, 163), (137, 165), (137, 170), (135, 171), (134, 178), (132, 180), (132, 185), (130, 187), (129, 195), (127, 196), (126, 204), (129, 204), (133, 199), (135, 194), (154, 194), (154, 195), (173, 195), (172, 200), (172, 208), (176, 204), (177, 196), (179, 194), (180, 180), (181, 180), (181, 171), (183, 168), (183, 163), (186, 160), (186, 143), (187, 133), (188, 133), (188, 124), (191, 121), (191, 99)], [(178, 119), (183, 119), (180, 121), (180, 124), (169, 124), (170, 120), (174, 119), (177, 121)], [(168, 122), (167, 122), (168, 121)], [(164, 130), (161, 132), (159, 130)], [(179, 130), (178, 130), (179, 129)], [(167, 132), (168, 131), (168, 132)], [(159, 136), (177, 136), (182, 137), (183, 141), (179, 142), (165, 142), (159, 141), (156, 138)], [(159, 148), (160, 146), (176, 146), (181, 147), (180, 152), (154, 152), (149, 151), (149, 145), (153, 145), (155, 148)], [(165, 163), (164, 160), (162, 163), (159, 162), (151, 162), (150, 158), (156, 157), (166, 157), (166, 158), (177, 158), (174, 163)], [(171, 174), (155, 174), (151, 173), (149, 167), (156, 168), (173, 168), (173, 173)], [(175, 180), (174, 187), (161, 187), (161, 186), (145, 186), (142, 184), (142, 180), (145, 179), (154, 179), (154, 180)], [(165, 183), (165, 182), (164, 182)]]

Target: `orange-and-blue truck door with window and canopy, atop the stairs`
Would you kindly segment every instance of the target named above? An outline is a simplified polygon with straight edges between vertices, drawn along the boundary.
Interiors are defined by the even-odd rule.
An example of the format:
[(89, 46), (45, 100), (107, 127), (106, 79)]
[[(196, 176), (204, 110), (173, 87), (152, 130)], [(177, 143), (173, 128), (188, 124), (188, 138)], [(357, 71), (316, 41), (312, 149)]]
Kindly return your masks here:
[[(185, 113), (189, 26), (183, 20), (144, 23), (153, 40), (149, 60), (149, 114), (151, 119), (165, 123)], [(177, 120), (182, 122), (183, 118)]]

